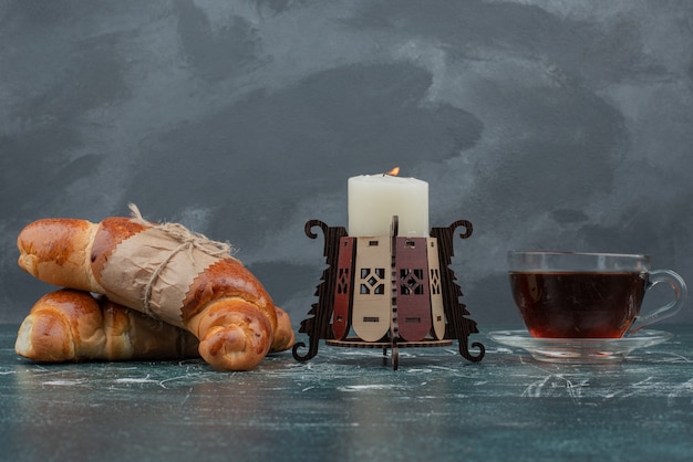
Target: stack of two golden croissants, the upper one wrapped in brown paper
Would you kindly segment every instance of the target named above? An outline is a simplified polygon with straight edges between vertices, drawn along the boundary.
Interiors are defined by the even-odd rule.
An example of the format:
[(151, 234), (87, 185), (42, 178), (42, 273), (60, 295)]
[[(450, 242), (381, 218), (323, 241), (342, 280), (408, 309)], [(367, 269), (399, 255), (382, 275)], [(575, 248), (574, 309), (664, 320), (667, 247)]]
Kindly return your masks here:
[(19, 265), (61, 286), (23, 321), (15, 350), (35, 361), (201, 356), (249, 370), (293, 344), (288, 314), (228, 244), (178, 223), (44, 219), (19, 234)]

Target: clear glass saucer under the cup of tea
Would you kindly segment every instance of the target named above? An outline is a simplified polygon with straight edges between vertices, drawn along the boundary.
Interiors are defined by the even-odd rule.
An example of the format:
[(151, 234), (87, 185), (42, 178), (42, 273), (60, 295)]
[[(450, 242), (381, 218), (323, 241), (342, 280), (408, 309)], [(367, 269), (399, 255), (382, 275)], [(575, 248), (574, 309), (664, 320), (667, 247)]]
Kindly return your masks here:
[(669, 340), (663, 330), (638, 330), (621, 338), (535, 338), (527, 330), (495, 330), (488, 337), (501, 345), (526, 349), (547, 363), (618, 363), (637, 348)]

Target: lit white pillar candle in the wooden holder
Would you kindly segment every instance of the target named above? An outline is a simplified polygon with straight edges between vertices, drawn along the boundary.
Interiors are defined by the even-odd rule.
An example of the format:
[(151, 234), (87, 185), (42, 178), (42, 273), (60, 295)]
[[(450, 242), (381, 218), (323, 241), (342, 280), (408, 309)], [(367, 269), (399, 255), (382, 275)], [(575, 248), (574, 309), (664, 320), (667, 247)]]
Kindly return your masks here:
[(349, 235), (389, 235), (397, 216), (397, 235), (428, 235), (428, 183), (416, 178), (361, 175), (349, 178)]

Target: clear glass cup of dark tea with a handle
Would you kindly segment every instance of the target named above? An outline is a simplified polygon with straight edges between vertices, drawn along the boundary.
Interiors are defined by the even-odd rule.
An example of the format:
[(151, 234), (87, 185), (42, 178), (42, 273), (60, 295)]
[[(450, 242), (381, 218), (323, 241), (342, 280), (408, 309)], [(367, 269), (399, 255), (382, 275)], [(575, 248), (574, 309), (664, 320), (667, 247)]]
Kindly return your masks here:
[[(513, 297), (532, 337), (618, 338), (676, 314), (687, 290), (641, 254), (508, 252)], [(645, 293), (668, 283), (674, 300), (640, 313)]]

